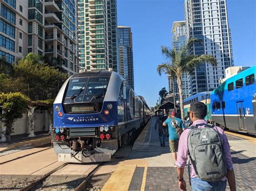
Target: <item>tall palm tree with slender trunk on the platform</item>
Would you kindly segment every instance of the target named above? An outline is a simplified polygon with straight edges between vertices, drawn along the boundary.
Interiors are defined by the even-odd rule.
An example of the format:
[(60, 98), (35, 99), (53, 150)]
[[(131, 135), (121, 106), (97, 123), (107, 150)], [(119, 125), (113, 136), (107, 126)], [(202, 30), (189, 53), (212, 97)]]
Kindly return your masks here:
[(176, 49), (170, 49), (166, 46), (161, 46), (161, 52), (165, 55), (167, 61), (166, 63), (161, 63), (157, 66), (157, 72), (159, 75), (161, 73), (166, 73), (177, 80), (178, 90), (179, 90), (179, 101), (180, 101), (180, 111), (181, 119), (184, 119), (183, 111), (183, 87), (181, 83), (181, 75), (185, 73), (193, 73), (194, 68), (200, 63), (210, 63), (212, 66), (217, 66), (217, 60), (212, 55), (201, 54), (193, 55), (190, 54), (190, 49), (193, 47), (194, 43), (201, 43), (200, 40), (196, 38), (191, 38), (184, 45), (184, 47), (177, 51)]

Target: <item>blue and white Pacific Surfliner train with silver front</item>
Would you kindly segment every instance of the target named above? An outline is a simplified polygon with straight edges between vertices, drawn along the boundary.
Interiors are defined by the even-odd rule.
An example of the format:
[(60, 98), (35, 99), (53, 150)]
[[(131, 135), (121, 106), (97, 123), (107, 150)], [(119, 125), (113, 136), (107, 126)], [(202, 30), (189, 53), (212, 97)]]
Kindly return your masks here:
[(116, 72), (74, 74), (53, 104), (52, 140), (59, 161), (109, 161), (150, 119), (151, 111)]

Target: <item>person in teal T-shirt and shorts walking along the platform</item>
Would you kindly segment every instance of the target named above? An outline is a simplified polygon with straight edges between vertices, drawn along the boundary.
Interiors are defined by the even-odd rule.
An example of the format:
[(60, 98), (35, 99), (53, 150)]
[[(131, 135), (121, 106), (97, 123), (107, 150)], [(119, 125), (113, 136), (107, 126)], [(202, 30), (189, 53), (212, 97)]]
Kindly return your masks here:
[(178, 134), (176, 132), (176, 127), (179, 126), (179, 128), (185, 128), (182, 120), (177, 117), (177, 112), (176, 111), (171, 111), (169, 113), (168, 118), (165, 120), (163, 123), (163, 126), (168, 125), (168, 130), (169, 130), (169, 145), (170, 145), (170, 151), (172, 153), (172, 157), (175, 161), (174, 167), (176, 166), (176, 161), (177, 161), (177, 151), (178, 151), (178, 143), (179, 143), (179, 138)]

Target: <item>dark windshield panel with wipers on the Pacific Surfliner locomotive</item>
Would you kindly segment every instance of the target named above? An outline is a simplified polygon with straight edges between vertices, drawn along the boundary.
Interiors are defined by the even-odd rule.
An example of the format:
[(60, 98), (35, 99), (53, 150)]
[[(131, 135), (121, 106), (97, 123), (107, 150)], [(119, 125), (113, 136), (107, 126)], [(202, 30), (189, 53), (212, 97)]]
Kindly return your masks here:
[(100, 111), (108, 84), (109, 77), (70, 79), (63, 102), (65, 110), (68, 113)]

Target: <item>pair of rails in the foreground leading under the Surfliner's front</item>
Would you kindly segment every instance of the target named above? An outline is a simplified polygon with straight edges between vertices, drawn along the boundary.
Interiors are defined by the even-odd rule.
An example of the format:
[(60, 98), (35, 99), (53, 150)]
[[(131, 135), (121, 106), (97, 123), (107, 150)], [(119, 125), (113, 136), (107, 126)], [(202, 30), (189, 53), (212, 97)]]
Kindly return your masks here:
[[(98, 168), (100, 166), (102, 166), (105, 162), (100, 162), (99, 164), (97, 164), (97, 166), (95, 168), (93, 168), (91, 170), (91, 172), (86, 176), (84, 177), (83, 181), (81, 183), (79, 183), (79, 185), (75, 186), (75, 190), (77, 191), (80, 191), (80, 190), (84, 190), (85, 189), (85, 186), (86, 186), (86, 183), (88, 180), (91, 179), (91, 176), (93, 176), (93, 174), (95, 174), (98, 170)], [(26, 191), (26, 190), (36, 190), (36, 189), (43, 189), (43, 182), (49, 177), (51, 176), (53, 173), (59, 171), (60, 169), (64, 168), (65, 166), (69, 165), (69, 163), (65, 163), (55, 169), (52, 169), (52, 171), (50, 171), (49, 173), (45, 174), (44, 176), (42, 176), (42, 178), (39, 178), (33, 182), (31, 182), (28, 186), (25, 186), (24, 188), (22, 189), (19, 189), (21, 191)], [(53, 188), (51, 188), (53, 189)]]

